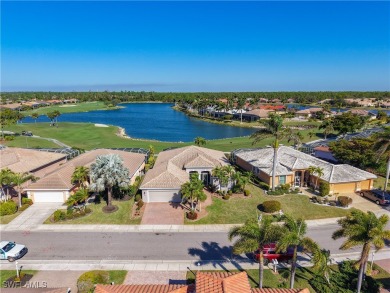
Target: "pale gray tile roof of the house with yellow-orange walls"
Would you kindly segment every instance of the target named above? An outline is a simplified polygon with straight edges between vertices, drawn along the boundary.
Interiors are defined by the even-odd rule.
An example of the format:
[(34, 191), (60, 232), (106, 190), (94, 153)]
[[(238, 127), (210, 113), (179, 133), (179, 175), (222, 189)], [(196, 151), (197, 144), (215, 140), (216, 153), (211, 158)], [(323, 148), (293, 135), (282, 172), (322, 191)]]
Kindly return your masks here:
[[(273, 148), (240, 149), (234, 151), (233, 154), (272, 176)], [(321, 179), (329, 183), (357, 182), (377, 178), (372, 173), (347, 164), (334, 165), (291, 147), (281, 146), (279, 148), (276, 176), (293, 174), (293, 170), (308, 169), (310, 166), (321, 167), (324, 172)]]

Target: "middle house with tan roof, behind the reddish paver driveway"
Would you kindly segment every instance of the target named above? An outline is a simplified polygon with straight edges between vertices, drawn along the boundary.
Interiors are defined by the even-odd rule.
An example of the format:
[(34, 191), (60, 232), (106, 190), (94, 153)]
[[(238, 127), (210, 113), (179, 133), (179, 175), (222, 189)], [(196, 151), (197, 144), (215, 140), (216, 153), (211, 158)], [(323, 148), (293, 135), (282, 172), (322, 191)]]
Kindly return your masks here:
[(214, 183), (212, 170), (228, 165), (225, 154), (197, 146), (161, 152), (140, 186), (144, 202), (180, 202), (181, 186), (197, 173), (205, 185)]

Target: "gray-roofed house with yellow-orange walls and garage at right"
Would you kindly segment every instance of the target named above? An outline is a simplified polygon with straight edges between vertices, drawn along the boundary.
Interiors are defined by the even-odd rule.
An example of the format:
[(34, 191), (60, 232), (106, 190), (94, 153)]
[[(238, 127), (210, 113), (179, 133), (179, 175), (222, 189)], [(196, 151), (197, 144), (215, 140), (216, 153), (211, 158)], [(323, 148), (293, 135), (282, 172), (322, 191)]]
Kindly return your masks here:
[[(274, 149), (238, 149), (232, 152), (233, 161), (241, 168), (252, 171), (259, 179), (272, 185)], [(281, 146), (277, 153), (276, 185), (290, 184), (292, 187), (313, 186), (317, 177), (310, 174), (310, 166), (320, 167), (321, 181), (329, 183), (330, 194), (354, 193), (363, 189), (372, 189), (376, 175), (347, 164), (335, 165)]]

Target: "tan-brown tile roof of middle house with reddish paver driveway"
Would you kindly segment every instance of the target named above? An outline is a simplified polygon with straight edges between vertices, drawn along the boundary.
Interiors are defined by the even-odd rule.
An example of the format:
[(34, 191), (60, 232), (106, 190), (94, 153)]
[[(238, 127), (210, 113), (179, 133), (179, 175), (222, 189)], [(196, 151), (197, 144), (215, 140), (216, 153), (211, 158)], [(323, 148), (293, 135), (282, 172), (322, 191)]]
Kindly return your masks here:
[[(201, 166), (202, 164), (205, 164)], [(175, 188), (189, 180), (185, 168), (208, 167), (227, 165), (228, 161), (221, 151), (197, 146), (187, 146), (161, 152), (142, 182), (140, 189), (148, 188)]]

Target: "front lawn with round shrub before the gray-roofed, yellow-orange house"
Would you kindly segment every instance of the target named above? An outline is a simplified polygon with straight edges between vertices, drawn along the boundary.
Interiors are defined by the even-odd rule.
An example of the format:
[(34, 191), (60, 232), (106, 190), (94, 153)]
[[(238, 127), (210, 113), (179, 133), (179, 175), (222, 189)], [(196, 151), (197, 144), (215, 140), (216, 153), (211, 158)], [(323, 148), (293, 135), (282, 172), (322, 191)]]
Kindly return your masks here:
[(306, 220), (343, 217), (350, 210), (330, 206), (315, 205), (306, 195), (288, 194), (281, 197), (265, 195), (264, 192), (254, 186), (248, 185), (251, 197), (230, 198), (223, 200), (213, 198), (213, 204), (207, 207), (208, 215), (198, 221), (188, 221), (187, 224), (238, 224), (244, 223), (249, 218), (254, 218), (260, 213), (259, 205), (265, 200), (277, 200), (282, 205), (284, 213), (303, 217)]

